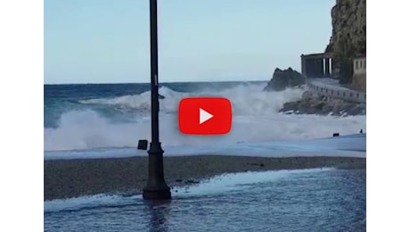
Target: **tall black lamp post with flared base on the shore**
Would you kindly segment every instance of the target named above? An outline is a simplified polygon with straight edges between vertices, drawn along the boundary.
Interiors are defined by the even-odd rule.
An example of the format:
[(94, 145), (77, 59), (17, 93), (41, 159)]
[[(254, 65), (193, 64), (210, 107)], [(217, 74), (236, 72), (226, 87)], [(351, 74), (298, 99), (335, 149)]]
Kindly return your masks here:
[(157, 34), (157, 0), (150, 0), (151, 30), (151, 129), (152, 142), (148, 150), (148, 182), (143, 188), (143, 199), (167, 200), (171, 191), (164, 178), (164, 165), (160, 146), (158, 95), (158, 34)]

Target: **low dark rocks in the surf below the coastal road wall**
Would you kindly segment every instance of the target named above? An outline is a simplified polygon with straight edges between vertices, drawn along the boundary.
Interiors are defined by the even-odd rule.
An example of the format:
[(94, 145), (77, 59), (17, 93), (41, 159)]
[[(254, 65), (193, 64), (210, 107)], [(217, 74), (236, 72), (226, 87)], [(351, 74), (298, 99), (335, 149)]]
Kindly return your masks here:
[(300, 100), (283, 104), (280, 112), (319, 115), (328, 115), (332, 112), (332, 115), (335, 116), (365, 115), (365, 104), (357, 104), (340, 99), (331, 100), (326, 97), (312, 95), (307, 91)]

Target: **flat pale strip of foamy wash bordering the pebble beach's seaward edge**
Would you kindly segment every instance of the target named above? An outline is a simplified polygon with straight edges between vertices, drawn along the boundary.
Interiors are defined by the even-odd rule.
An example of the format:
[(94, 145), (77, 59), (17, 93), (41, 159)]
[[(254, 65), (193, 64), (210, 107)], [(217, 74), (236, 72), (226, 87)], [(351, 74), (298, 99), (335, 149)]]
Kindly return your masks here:
[[(166, 156), (242, 155), (255, 157), (338, 156), (366, 157), (365, 134), (272, 142), (243, 142), (231, 145), (163, 145)], [(135, 147), (107, 147), (86, 150), (48, 151), (45, 160), (95, 159), (146, 156)]]

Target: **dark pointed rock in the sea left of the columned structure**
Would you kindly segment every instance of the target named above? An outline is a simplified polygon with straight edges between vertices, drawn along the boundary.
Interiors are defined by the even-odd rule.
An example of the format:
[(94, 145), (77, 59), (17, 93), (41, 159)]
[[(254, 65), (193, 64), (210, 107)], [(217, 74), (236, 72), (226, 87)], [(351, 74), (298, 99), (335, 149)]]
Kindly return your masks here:
[(264, 91), (282, 91), (286, 87), (299, 87), (305, 85), (306, 79), (298, 71), (275, 69), (272, 79), (267, 83)]

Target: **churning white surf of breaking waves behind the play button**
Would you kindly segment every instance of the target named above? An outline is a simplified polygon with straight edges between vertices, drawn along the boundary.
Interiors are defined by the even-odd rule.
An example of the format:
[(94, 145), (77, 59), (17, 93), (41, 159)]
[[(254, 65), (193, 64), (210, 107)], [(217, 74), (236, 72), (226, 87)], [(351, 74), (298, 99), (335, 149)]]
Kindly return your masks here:
[[(265, 84), (250, 84), (221, 91), (201, 89), (196, 93), (179, 93), (160, 88), (160, 141), (165, 146), (233, 145), (243, 142), (329, 137), (365, 130), (365, 116), (287, 115), (278, 113), (284, 103), (298, 99), (303, 90), (263, 92)], [(233, 104), (233, 126), (228, 135), (193, 137), (179, 132), (177, 107), (186, 96), (224, 96)], [(149, 118), (150, 92), (112, 99), (91, 99), (82, 104), (105, 104), (146, 112), (135, 115), (133, 122), (112, 122), (92, 110), (72, 111), (61, 115), (58, 128), (45, 128), (45, 151), (134, 146), (138, 139), (151, 137)]]

